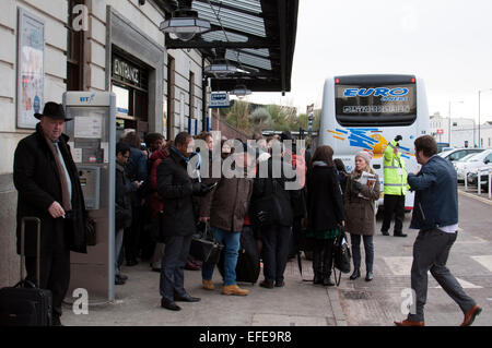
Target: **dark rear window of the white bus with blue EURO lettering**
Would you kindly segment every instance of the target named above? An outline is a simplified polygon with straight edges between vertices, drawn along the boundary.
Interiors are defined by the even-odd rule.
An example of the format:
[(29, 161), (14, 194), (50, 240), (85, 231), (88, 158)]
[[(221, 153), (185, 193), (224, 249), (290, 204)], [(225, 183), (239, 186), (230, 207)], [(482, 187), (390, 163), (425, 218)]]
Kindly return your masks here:
[(335, 88), (337, 120), (342, 125), (409, 125), (417, 118), (414, 84)]

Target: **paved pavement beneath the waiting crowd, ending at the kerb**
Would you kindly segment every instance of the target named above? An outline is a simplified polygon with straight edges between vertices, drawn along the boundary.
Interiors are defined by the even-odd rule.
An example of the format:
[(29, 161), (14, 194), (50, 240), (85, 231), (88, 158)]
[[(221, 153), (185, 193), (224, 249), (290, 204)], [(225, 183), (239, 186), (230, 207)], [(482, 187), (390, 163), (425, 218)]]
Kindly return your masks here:
[[(303, 260), (304, 278), (313, 278), (311, 261)], [(215, 290), (201, 288), (201, 272), (185, 271), (185, 288), (197, 303), (183, 303), (179, 312), (162, 309), (159, 295), (159, 273), (148, 264), (124, 267), (129, 280), (116, 286), (116, 300), (103, 305), (90, 305), (89, 314), (75, 315), (65, 305), (63, 325), (74, 326), (333, 326), (344, 317), (333, 290), (303, 281), (297, 262), (289, 262), (285, 287), (265, 289), (257, 285), (239, 284), (250, 293), (246, 297), (221, 295), (221, 276), (214, 272)], [(260, 279), (262, 277), (260, 276)], [(331, 291), (331, 292), (330, 292)], [(331, 304), (330, 296), (336, 302)]]

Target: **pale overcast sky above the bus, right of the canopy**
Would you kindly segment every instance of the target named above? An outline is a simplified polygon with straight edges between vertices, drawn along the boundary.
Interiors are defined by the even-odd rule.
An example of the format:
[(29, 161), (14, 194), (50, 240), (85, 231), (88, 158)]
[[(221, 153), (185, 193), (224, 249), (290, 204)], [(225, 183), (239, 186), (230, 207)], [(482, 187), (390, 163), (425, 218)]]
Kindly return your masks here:
[[(491, 0), (300, 0), (291, 92), (260, 104), (323, 104), (325, 79), (402, 73), (423, 79), (429, 113), (492, 121)], [(491, 89), (491, 91), (488, 91)]]

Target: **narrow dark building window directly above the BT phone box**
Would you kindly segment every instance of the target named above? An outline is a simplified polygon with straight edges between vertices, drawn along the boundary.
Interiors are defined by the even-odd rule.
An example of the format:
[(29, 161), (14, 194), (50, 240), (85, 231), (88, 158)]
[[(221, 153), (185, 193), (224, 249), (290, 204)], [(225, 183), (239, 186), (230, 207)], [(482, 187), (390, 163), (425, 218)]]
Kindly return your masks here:
[(84, 89), (84, 32), (72, 27), (74, 16), (73, 8), (78, 4), (85, 5), (85, 0), (68, 1), (67, 23), (67, 91)]

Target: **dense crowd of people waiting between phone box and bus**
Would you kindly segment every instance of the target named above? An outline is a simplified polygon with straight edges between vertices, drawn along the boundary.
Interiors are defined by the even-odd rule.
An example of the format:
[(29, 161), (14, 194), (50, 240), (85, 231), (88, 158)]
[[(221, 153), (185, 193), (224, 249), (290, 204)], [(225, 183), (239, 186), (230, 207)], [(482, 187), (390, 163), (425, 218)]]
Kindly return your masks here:
[[(195, 146), (197, 139), (207, 144), (209, 156), (200, 155), (200, 148)], [(306, 239), (316, 240), (312, 243), (314, 284), (333, 286), (333, 242), (342, 229), (351, 235), (354, 272), (350, 279), (360, 277), (361, 239), (365, 247), (365, 280), (373, 279), (372, 236), (379, 180), (376, 179), (374, 188), (359, 182), (363, 171), (376, 175), (370, 166), (372, 154), (356, 154), (355, 168), (348, 173), (341, 160), (333, 160), (330, 146), (319, 146), (313, 155), (305, 148), (296, 151), (290, 132), (268, 137), (256, 135), (255, 141), (256, 148), (251, 151), (241, 140), (221, 139), (220, 160), (234, 156), (237, 167), (234, 169), (244, 173), (231, 178), (212, 175), (211, 133), (192, 137), (181, 132), (167, 142), (161, 134), (150, 133), (143, 147), (136, 132), (121, 137), (116, 156), (116, 285), (128, 279), (119, 272), (124, 260), (127, 266), (142, 260), (150, 263), (152, 271), (161, 273), (162, 307), (179, 310), (176, 301), (198, 301), (184, 288), (184, 269), (201, 269), (203, 288), (214, 289), (215, 265), (189, 254), (192, 235), (206, 224), (215, 240), (224, 244), (224, 295), (248, 295), (236, 284), (235, 274), (244, 229), (253, 230), (263, 264), (261, 287), (284, 286), (293, 245), (298, 249), (301, 240)], [(290, 141), (289, 146), (284, 146), (285, 141)], [(280, 151), (272, 151), (274, 146)], [(250, 156), (251, 153), (256, 156)], [(192, 179), (187, 171), (194, 156), (200, 157), (197, 166), (200, 179)], [(202, 158), (208, 158), (208, 167), (200, 167)], [(286, 183), (294, 179), (289, 179), (283, 169), (274, 175), (274, 168), (285, 168), (285, 164), (301, 178), (295, 189), (286, 189)], [(266, 175), (259, 175), (260, 167), (266, 168)], [(203, 170), (209, 172), (204, 175)], [(278, 205), (274, 212), (269, 212), (269, 224), (261, 221), (261, 215), (251, 213), (266, 197)], [(162, 235), (164, 240), (159, 238)]]

